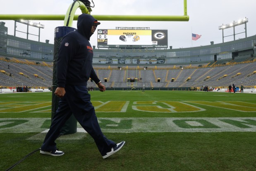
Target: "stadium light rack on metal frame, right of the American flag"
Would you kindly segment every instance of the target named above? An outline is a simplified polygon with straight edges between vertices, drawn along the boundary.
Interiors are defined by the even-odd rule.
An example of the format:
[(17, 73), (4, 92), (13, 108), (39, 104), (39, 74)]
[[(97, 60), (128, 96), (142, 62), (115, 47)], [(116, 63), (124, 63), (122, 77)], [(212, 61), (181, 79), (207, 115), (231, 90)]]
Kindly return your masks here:
[[(234, 32), (234, 27), (235, 26), (239, 26), (239, 25), (242, 25), (242, 24), (244, 24), (245, 25), (245, 27), (244, 27), (244, 29), (245, 29), (245, 31), (244, 32), (241, 32), (241, 33), (245, 33), (245, 37), (247, 37), (247, 31), (246, 31), (246, 23), (248, 22), (248, 19), (245, 17), (244, 19), (240, 19), (240, 20), (238, 20), (238, 21), (233, 21), (232, 23), (228, 23), (228, 24), (222, 24), (222, 26), (219, 26), (219, 30), (222, 30), (222, 42), (224, 43), (224, 37), (228, 37), (228, 36), (231, 36), (231, 35), (228, 35), (228, 36), (224, 36), (223, 34), (224, 34), (224, 29), (227, 29), (227, 28), (233, 28), (233, 32)], [(240, 34), (240, 33), (237, 33), (237, 34)], [(237, 35), (237, 34), (233, 34), (233, 36), (234, 36), (234, 40), (235, 40), (235, 35)]]

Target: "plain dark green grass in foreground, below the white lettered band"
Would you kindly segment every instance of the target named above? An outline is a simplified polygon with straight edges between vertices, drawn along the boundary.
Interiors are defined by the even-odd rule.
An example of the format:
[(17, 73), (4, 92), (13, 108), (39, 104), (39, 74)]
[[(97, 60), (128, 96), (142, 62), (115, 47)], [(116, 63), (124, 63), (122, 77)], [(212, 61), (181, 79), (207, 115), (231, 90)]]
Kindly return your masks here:
[[(27, 141), (32, 134), (1, 135), (1, 168), (7, 169), (38, 148)], [(91, 137), (57, 141), (61, 157), (31, 155), (13, 170), (26, 171), (253, 171), (256, 167), (256, 133), (133, 133), (106, 134), (127, 144), (118, 154), (102, 159)], [(11, 144), (11, 145), (10, 145)], [(6, 149), (8, 148), (8, 150)], [(2, 170), (1, 169), (1, 170)]]

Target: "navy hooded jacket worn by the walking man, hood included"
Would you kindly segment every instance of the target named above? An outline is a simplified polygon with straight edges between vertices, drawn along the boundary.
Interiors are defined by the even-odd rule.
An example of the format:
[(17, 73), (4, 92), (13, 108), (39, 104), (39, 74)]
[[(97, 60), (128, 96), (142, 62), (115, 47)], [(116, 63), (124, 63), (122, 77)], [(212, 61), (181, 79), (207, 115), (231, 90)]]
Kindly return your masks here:
[(97, 21), (89, 14), (81, 14), (77, 20), (77, 30), (62, 39), (57, 59), (57, 86), (87, 85), (91, 79), (100, 82), (93, 70), (93, 49), (89, 42), (91, 27)]

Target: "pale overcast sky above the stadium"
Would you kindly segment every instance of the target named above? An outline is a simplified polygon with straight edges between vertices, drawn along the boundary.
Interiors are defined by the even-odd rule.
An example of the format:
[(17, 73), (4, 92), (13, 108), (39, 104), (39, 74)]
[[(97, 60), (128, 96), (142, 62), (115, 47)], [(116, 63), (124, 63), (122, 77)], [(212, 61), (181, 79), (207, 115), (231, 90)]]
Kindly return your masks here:
[[(91, 0), (90, 0), (91, 1)], [(73, 0), (0, 0), (0, 14), (66, 14)], [(183, 0), (94, 0), (95, 7), (91, 15), (184, 15)], [(91, 3), (92, 5), (92, 3)], [(189, 21), (100, 21), (97, 29), (115, 29), (115, 27), (150, 27), (151, 30), (168, 30), (168, 47), (198, 47), (222, 43), (222, 31), (218, 26), (244, 19), (247, 23), (247, 37), (256, 35), (256, 0), (187, 0)], [(77, 9), (76, 14), (81, 14)], [(14, 35), (14, 21), (4, 21), (8, 34)], [(41, 29), (41, 42), (54, 43), (54, 28), (63, 26), (64, 21), (34, 21), (45, 25)], [(77, 21), (73, 22), (77, 28)], [(17, 23), (17, 30), (26, 31), (26, 25)], [(235, 27), (236, 40), (244, 38), (244, 25)], [(29, 27), (29, 33), (38, 35), (38, 28)], [(191, 33), (202, 35), (192, 41)], [(18, 37), (26, 34), (17, 32)], [(224, 30), (224, 36), (232, 35), (233, 28)], [(38, 40), (29, 35), (29, 39)], [(224, 42), (232, 41), (233, 36), (225, 37)], [(97, 47), (97, 34), (91, 37), (91, 45)]]

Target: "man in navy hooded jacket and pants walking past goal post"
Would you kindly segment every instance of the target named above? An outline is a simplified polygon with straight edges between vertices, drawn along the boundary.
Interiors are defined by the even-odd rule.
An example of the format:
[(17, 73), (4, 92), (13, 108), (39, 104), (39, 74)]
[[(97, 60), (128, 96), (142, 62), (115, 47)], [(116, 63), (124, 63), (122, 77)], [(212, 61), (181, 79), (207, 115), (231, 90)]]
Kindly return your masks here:
[(72, 113), (92, 136), (103, 159), (119, 151), (125, 143), (115, 143), (103, 135), (86, 87), (87, 81), (91, 78), (100, 91), (105, 91), (105, 86), (93, 70), (93, 48), (89, 42), (99, 24), (93, 16), (81, 14), (77, 20), (77, 30), (68, 33), (62, 39), (57, 60), (58, 87), (55, 91), (55, 95), (60, 97), (60, 102), (41, 146), (41, 154), (64, 155), (64, 152), (57, 150), (55, 140)]

